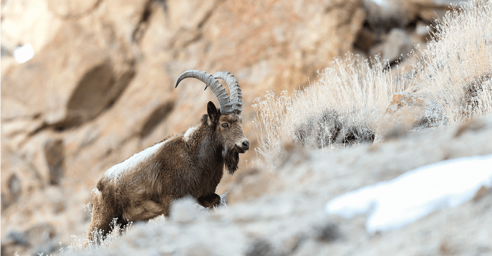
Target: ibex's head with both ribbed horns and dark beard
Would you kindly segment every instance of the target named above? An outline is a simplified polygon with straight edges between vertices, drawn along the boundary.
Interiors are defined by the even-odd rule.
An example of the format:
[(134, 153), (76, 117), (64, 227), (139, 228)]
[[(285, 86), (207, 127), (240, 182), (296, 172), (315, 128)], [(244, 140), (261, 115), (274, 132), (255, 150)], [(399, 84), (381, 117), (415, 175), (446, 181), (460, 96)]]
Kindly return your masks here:
[[(218, 146), (222, 147), (222, 157), (227, 171), (233, 174), (238, 168), (239, 153), (245, 153), (249, 149), (249, 141), (242, 125), (241, 107), (243, 106), (243, 96), (239, 83), (234, 75), (226, 71), (219, 71), (211, 75), (200, 70), (188, 70), (178, 77), (175, 88), (184, 78), (188, 77), (204, 82), (205, 89), (210, 87), (217, 98), (218, 110), (212, 101), (207, 104), (207, 122), (215, 130), (213, 139), (216, 140)], [(230, 99), (217, 79), (224, 80), (229, 86)]]

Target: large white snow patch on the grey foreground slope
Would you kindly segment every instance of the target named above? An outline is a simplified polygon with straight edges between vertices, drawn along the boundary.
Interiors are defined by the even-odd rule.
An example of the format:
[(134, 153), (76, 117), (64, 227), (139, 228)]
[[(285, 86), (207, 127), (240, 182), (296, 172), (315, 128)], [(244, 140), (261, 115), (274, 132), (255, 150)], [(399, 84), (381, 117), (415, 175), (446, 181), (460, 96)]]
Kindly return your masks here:
[(340, 195), (326, 211), (351, 218), (367, 214), (369, 232), (400, 228), (431, 212), (470, 200), (492, 186), (492, 155), (446, 160)]

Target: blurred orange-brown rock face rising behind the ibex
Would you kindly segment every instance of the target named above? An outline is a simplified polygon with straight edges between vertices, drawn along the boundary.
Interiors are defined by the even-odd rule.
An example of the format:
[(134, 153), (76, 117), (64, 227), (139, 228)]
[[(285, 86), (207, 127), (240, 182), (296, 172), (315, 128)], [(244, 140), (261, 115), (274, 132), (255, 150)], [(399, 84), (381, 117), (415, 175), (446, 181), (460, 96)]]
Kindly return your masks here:
[[(306, 87), (348, 51), (395, 64), (425, 47), (450, 2), (1, 0), (1, 255), (51, 253), (82, 236), (107, 168), (198, 123), (215, 97), (193, 80), (174, 89), (184, 70), (235, 74), (255, 148), (255, 97)], [(17, 63), (28, 43), (33, 58)], [(243, 183), (235, 203), (268, 187), (248, 180), (254, 161), (250, 150), (217, 193)]]

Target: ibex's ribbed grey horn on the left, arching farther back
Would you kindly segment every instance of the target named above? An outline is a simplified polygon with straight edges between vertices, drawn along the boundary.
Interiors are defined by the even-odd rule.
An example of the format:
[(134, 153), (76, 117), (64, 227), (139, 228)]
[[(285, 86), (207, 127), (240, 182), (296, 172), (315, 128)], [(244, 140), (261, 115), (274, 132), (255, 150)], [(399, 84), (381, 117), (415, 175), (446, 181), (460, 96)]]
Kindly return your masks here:
[(225, 91), (225, 88), (222, 87), (222, 85), (217, 81), (217, 79), (214, 78), (211, 74), (207, 74), (205, 71), (200, 71), (200, 70), (188, 70), (184, 71), (183, 74), (181, 74), (178, 77), (178, 80), (176, 80), (176, 87), (178, 87), (178, 84), (184, 79), (184, 78), (196, 78), (202, 82), (205, 83), (205, 89), (207, 87), (210, 87), (210, 90), (214, 92), (215, 97), (217, 98), (218, 101), (218, 107), (220, 109), (221, 114), (228, 115), (232, 113), (232, 104), (231, 101), (229, 100), (229, 95), (227, 95), (227, 92)]

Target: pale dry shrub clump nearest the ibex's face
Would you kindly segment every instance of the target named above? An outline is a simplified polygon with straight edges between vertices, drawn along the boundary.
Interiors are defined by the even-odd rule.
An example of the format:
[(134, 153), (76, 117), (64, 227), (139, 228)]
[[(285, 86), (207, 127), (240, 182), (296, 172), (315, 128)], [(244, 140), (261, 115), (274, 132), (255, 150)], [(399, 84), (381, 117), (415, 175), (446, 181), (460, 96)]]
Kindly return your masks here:
[(268, 92), (265, 99), (255, 99), (257, 151), (274, 163), (290, 142), (317, 148), (372, 142), (391, 97), (412, 81), (392, 77), (379, 57), (336, 58), (319, 72), (318, 81), (293, 96)]

